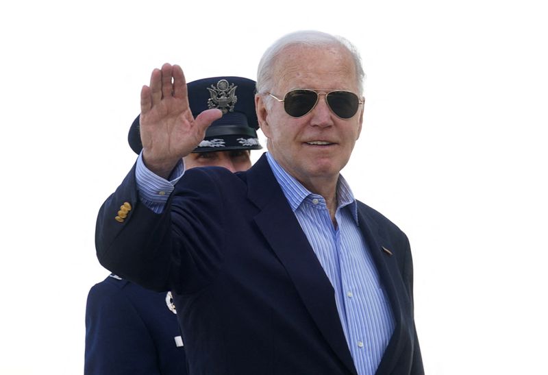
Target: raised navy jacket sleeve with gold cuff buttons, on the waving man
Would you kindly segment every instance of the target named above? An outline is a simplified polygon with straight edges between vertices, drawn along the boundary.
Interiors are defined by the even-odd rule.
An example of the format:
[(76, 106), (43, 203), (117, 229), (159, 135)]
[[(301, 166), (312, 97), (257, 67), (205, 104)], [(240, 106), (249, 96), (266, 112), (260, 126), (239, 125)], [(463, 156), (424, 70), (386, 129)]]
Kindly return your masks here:
[[(221, 263), (225, 215), (218, 175), (226, 173), (232, 175), (222, 168), (186, 171), (163, 212), (156, 214), (140, 202), (134, 167), (99, 210), (99, 263), (155, 291), (203, 288)], [(126, 203), (127, 216), (116, 219)]]

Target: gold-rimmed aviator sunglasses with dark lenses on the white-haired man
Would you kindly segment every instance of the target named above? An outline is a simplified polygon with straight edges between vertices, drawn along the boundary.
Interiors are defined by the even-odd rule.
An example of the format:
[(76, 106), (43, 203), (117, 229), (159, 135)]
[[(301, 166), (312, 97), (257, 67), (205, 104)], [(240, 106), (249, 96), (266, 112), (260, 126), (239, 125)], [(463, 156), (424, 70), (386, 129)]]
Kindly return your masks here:
[[(318, 91), (321, 92), (318, 93)], [(283, 103), (284, 110), (291, 117), (303, 117), (305, 114), (308, 114), (318, 104), (320, 95), (325, 95), (327, 106), (340, 119), (350, 119), (358, 112), (360, 104), (364, 104), (363, 101), (360, 101), (358, 95), (345, 90), (297, 88), (296, 90), (290, 90), (284, 96), (284, 99), (279, 99), (271, 93), (266, 94)]]

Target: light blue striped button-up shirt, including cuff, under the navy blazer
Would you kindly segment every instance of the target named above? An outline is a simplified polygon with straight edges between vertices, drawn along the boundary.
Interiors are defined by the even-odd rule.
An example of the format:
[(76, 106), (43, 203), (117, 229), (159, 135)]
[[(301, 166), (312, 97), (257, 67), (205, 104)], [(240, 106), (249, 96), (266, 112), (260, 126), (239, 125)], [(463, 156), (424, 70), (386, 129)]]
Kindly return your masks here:
[[(358, 205), (339, 177), (334, 228), (325, 199), (310, 193), (266, 153), (274, 176), (301, 224), (312, 250), (335, 290), (340, 323), (359, 375), (373, 375), (388, 346), (395, 322), (369, 249), (358, 227)], [(170, 180), (149, 171), (139, 156), (136, 183), (140, 199), (161, 213), (175, 183), (184, 173), (179, 163)]]

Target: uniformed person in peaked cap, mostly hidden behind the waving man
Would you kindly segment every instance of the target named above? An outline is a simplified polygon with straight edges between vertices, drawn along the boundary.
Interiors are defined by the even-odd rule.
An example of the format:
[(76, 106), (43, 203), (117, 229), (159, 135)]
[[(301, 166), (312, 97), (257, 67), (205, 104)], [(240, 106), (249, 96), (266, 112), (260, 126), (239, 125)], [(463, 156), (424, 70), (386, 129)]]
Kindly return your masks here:
[[(184, 158), (186, 169), (219, 166), (232, 172), (251, 167), (251, 149), (260, 149), (254, 104), (255, 82), (212, 77), (188, 84), (192, 114), (219, 108), (221, 119)], [(128, 135), (140, 154), (139, 117)], [(117, 220), (123, 221), (123, 209)], [(171, 292), (158, 293), (111, 274), (91, 288), (86, 306), (86, 375), (184, 375), (184, 343)]]

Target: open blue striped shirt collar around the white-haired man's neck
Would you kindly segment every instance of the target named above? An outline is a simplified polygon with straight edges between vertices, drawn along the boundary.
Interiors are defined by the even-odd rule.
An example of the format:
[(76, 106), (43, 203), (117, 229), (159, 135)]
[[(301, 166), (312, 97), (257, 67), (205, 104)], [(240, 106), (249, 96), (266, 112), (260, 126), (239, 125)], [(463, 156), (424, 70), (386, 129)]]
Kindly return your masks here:
[[(274, 173), (274, 177), (282, 188), (289, 206), (295, 213), (295, 210), (299, 208), (306, 197), (315, 194), (306, 189), (306, 187), (297, 181), (297, 179), (287, 173), (286, 170), (274, 160), (269, 152), (266, 152), (266, 159), (269, 160), (269, 165)], [(349, 206), (354, 221), (358, 223), (358, 204), (356, 204), (356, 199), (354, 198), (348, 182), (340, 174), (337, 182), (337, 201), (337, 208)]]

